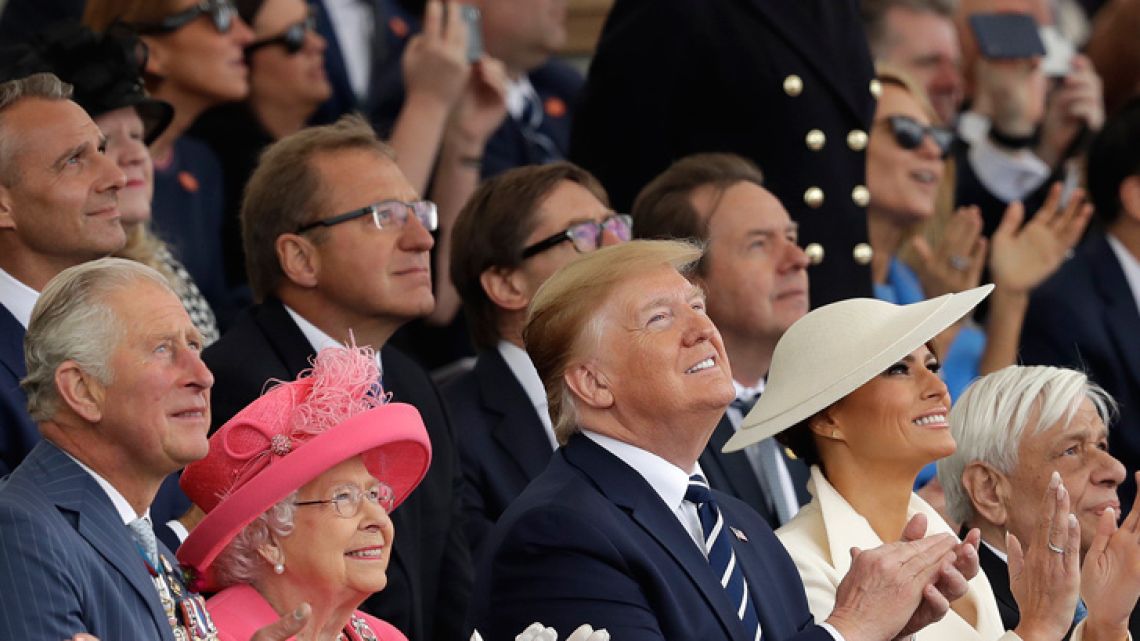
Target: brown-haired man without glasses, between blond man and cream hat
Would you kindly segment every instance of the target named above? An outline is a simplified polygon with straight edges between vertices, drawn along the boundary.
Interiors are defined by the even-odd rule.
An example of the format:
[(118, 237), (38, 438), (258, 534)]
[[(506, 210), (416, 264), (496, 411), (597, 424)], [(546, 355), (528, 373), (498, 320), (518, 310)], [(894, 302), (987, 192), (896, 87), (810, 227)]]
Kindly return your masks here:
[(633, 214), (638, 238), (706, 248), (694, 275), (724, 338), (736, 399), (701, 453), (701, 469), (709, 485), (751, 505), (775, 529), (811, 501), (807, 466), (775, 439), (743, 452), (722, 448), (764, 390), (780, 336), (807, 314), (808, 258), (798, 226), (764, 188), (756, 165), (734, 154), (677, 161), (642, 189)]

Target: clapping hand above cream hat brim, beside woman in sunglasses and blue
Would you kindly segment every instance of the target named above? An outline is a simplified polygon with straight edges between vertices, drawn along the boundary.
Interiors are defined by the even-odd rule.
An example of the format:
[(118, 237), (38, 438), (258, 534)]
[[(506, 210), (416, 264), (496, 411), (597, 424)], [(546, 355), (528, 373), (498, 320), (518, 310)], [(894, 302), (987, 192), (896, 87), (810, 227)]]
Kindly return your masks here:
[(915, 266), (915, 275), (927, 298), (977, 287), (986, 263), (986, 245), (982, 211), (977, 206), (959, 208), (934, 249), (921, 235), (914, 236), (911, 246), (921, 261)]

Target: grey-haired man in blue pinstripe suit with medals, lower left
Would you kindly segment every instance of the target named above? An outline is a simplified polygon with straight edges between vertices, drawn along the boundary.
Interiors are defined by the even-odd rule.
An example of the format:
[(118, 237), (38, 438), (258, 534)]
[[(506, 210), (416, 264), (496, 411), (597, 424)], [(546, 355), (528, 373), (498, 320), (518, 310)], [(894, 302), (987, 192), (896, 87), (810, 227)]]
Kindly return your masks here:
[[(204, 602), (147, 522), (163, 479), (209, 449), (201, 349), (149, 267), (104, 258), (48, 283), (23, 381), (43, 439), (0, 486), (0, 639), (210, 638)], [(306, 616), (254, 639), (286, 639)]]

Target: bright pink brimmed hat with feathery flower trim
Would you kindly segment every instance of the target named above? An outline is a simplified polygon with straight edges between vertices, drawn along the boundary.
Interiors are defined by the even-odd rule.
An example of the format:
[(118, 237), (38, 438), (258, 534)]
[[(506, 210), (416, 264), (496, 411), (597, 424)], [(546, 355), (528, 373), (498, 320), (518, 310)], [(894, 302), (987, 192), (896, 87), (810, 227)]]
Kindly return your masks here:
[(226, 545), (286, 496), (333, 466), (364, 456), (399, 505), (431, 463), (415, 407), (388, 403), (369, 348), (329, 348), (311, 370), (238, 412), (210, 437), (210, 453), (180, 485), (206, 516), (178, 549), (197, 590), (215, 590), (212, 565)]

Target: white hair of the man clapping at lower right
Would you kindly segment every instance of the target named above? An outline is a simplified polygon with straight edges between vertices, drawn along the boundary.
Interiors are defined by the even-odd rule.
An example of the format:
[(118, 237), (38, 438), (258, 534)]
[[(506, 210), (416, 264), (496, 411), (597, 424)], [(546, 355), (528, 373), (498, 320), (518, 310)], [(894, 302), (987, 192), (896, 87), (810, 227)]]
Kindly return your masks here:
[[(971, 383), (950, 411), (958, 451), (938, 461), (950, 517), (962, 524), (974, 518), (974, 504), (962, 486), (968, 464), (982, 462), (1011, 473), (1026, 429), (1041, 433), (1061, 421), (1067, 427), (1085, 399), (1106, 425), (1112, 422), (1116, 401), (1076, 370), (1010, 365)], [(1031, 419), (1035, 419), (1032, 425)]]

